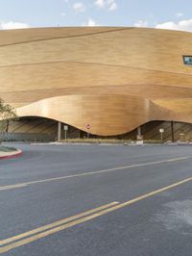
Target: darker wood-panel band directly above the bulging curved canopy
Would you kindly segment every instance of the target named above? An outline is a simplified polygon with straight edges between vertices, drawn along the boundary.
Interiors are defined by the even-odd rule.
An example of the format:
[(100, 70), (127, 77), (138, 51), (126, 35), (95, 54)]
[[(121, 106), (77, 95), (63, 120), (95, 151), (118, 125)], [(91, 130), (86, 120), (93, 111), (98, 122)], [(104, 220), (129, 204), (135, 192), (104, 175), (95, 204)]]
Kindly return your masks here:
[[(192, 98), (192, 90), (190, 88), (180, 88), (173, 90), (173, 87), (168, 86), (103, 86), (103, 87), (81, 87), (81, 88), (62, 88), (62, 89), (47, 89), (47, 90), (22, 90), (22, 91), (11, 91), (1, 92), (1, 96), (7, 102), (14, 102), (14, 105), (24, 106), (27, 103), (35, 102), (43, 98), (49, 98), (52, 96), (69, 95), (74, 94), (97, 94), (104, 93), (108, 94), (108, 91), (112, 91), (113, 94), (130, 94), (130, 95), (142, 95), (144, 98), (149, 99), (170, 99), (170, 98)], [(28, 96), (30, 93), (30, 97)], [(171, 96), (170, 96), (171, 95)], [(156, 101), (157, 103), (157, 101)]]

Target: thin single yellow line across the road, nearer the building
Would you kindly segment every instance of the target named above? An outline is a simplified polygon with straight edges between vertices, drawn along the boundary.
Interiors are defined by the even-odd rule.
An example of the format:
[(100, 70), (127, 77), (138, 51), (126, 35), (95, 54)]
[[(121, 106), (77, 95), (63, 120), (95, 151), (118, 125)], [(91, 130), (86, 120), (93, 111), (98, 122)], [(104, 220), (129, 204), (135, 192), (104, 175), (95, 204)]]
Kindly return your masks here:
[(172, 158), (172, 159), (166, 159), (166, 160), (161, 160), (161, 161), (156, 161), (156, 162), (136, 164), (136, 165), (132, 165), (132, 166), (120, 166), (120, 167), (101, 169), (101, 170), (96, 170), (96, 171), (89, 171), (89, 172), (84, 172), (84, 173), (79, 173), (79, 174), (74, 174), (74, 175), (67, 175), (67, 176), (60, 176), (60, 177), (44, 179), (44, 180), (36, 180), (36, 181), (30, 181), (30, 182), (25, 182), (25, 183), (18, 183), (18, 184), (13, 184), (13, 185), (9, 185), (9, 186), (2, 186), (2, 187), (0, 187), (0, 191), (11, 190), (11, 189), (19, 188), (19, 187), (20, 188), (26, 187), (26, 186), (38, 184), (38, 183), (52, 182), (52, 181), (58, 181), (58, 180), (63, 180), (63, 179), (70, 179), (70, 178), (94, 175), (94, 174), (98, 174), (98, 173), (105, 173), (105, 172), (109, 172), (109, 171), (113, 171), (113, 170), (134, 168), (134, 167), (140, 167), (140, 166), (152, 166), (152, 165), (158, 165), (158, 164), (162, 164), (162, 163), (182, 161), (182, 160), (186, 160), (189, 158), (192, 158), (192, 156)]

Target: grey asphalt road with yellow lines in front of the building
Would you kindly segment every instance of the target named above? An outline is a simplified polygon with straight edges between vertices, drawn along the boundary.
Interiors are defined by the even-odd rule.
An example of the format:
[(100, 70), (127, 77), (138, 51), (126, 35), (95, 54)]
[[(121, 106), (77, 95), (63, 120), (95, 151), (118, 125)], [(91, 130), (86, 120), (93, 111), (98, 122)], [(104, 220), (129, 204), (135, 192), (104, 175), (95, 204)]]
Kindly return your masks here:
[(192, 255), (191, 146), (12, 145), (0, 255)]

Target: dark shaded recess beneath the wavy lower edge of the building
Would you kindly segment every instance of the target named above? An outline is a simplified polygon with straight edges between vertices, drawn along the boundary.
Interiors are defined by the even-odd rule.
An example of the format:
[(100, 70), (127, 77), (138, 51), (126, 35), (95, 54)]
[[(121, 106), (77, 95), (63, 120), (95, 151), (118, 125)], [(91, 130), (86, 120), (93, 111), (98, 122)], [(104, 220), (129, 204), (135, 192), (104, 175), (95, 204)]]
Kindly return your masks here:
[[(60, 139), (65, 140), (64, 125), (61, 126)], [(87, 138), (87, 132), (76, 127), (67, 125), (66, 139)], [(159, 130), (163, 129), (161, 137)], [(140, 126), (143, 140), (146, 141), (192, 141), (192, 124), (171, 121), (151, 121)], [(119, 139), (136, 140), (137, 129), (117, 136), (98, 136), (89, 134), (93, 139)], [(58, 121), (42, 117), (21, 117), (19, 120), (10, 120), (7, 133), (4, 135), (6, 141), (57, 141)]]

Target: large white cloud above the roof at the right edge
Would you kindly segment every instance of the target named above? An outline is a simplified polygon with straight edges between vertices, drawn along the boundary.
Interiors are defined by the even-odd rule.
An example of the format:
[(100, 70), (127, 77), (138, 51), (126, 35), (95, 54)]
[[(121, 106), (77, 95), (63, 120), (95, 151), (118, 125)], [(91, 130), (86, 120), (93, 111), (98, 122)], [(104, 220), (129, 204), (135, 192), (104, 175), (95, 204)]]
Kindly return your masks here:
[(164, 22), (157, 24), (156, 29), (171, 29), (192, 32), (192, 19), (180, 20), (179, 22)]

